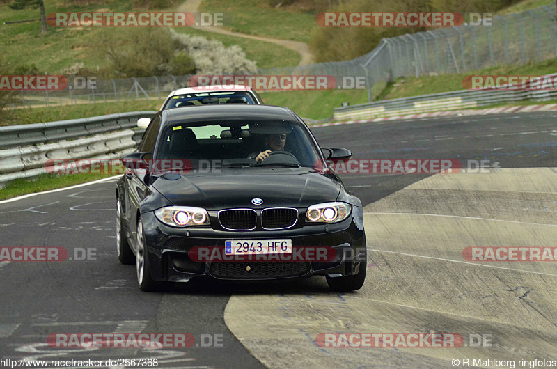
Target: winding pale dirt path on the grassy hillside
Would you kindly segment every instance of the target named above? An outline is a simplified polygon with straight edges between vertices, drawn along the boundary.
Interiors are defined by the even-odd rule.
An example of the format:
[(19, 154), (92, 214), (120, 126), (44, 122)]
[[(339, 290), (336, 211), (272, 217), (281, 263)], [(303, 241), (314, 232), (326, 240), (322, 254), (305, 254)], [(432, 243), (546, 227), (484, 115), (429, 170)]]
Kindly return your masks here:
[[(201, 4), (201, 0), (186, 0), (184, 3), (182, 3), (182, 5), (180, 5), (178, 7), (178, 11), (196, 13), (196, 12), (199, 11), (199, 5), (200, 4)], [(309, 51), (309, 47), (304, 42), (290, 41), (290, 40), (280, 40), (278, 38), (267, 38), (267, 37), (260, 37), (260, 36), (245, 35), (244, 33), (236, 33), (236, 32), (232, 32), (232, 31), (228, 31), (226, 29), (223, 29), (222, 27), (217, 27), (217, 26), (193, 26), (192, 28), (198, 29), (200, 31), (220, 33), (221, 35), (228, 35), (228, 36), (249, 38), (251, 40), (272, 42), (276, 45), (280, 45), (282, 47), (286, 47), (287, 49), (294, 50), (295, 52), (300, 54), (301, 60), (298, 64), (298, 66), (299, 65), (308, 65), (308, 64), (313, 63), (313, 58), (311, 56), (311, 52)]]

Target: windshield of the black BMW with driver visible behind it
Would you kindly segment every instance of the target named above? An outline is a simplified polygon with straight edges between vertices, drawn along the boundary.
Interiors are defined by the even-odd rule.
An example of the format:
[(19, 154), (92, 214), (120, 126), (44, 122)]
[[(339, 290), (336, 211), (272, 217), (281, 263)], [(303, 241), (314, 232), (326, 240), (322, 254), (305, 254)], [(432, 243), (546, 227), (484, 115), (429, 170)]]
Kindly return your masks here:
[(175, 123), (159, 136), (157, 159), (187, 159), (194, 168), (312, 168), (319, 159), (306, 128), (295, 122)]

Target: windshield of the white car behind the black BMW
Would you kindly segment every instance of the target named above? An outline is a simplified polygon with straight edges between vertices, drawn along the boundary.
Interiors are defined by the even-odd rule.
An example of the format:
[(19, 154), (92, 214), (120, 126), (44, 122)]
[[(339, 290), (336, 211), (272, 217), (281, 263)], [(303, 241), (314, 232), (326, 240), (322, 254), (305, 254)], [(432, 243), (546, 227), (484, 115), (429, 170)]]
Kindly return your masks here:
[(165, 102), (162, 109), (206, 104), (257, 104), (257, 102), (246, 91), (200, 92), (175, 95)]

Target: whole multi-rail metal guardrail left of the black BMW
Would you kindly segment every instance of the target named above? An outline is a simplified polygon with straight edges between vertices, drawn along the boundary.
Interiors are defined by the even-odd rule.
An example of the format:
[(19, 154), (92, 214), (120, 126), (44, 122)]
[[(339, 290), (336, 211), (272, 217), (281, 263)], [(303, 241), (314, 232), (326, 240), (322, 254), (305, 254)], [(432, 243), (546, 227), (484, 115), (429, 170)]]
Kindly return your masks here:
[(59, 122), (0, 127), (0, 188), (17, 178), (48, 173), (49, 159), (118, 159), (134, 151), (144, 129), (134, 111)]

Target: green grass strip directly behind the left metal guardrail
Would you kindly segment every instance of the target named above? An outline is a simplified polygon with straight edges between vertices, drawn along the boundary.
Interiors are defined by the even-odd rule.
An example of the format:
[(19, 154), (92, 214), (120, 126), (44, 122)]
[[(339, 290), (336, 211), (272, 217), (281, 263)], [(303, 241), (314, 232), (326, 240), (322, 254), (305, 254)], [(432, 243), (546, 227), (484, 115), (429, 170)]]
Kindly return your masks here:
[(164, 100), (131, 100), (127, 102), (98, 102), (97, 104), (79, 104), (63, 107), (9, 109), (1, 111), (0, 126), (88, 118), (113, 113), (125, 113), (127, 111), (157, 111), (163, 102)]

